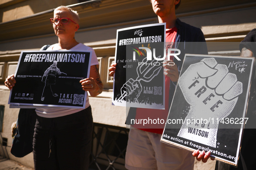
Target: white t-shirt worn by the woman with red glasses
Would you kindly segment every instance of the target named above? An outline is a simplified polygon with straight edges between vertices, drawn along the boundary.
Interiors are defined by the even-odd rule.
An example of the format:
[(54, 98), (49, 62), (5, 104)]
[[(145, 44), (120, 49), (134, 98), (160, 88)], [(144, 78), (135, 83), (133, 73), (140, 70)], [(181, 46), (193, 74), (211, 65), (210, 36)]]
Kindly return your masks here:
[[(55, 50), (54, 46), (56, 44), (51, 45), (47, 50)], [(99, 64), (97, 60), (97, 56), (94, 52), (94, 50), (91, 47), (88, 47), (82, 43), (77, 44), (75, 47), (71, 48), (70, 50), (90, 50), (92, 51), (91, 55), (91, 66)], [(88, 93), (86, 96), (86, 103), (85, 103), (85, 108), (89, 107), (89, 98), (88, 98)], [(44, 107), (44, 108), (37, 108), (36, 109), (36, 114), (41, 117), (46, 117), (46, 118), (54, 118), (54, 117), (60, 117), (60, 116), (66, 116), (69, 114), (77, 113), (83, 109), (69, 109), (69, 108), (58, 108), (58, 107)]]

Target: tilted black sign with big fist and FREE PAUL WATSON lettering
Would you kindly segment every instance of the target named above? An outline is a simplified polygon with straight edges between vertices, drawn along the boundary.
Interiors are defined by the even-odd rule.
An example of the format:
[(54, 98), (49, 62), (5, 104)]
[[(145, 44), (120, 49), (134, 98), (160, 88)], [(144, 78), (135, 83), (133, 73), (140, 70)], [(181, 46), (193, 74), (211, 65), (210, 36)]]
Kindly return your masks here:
[(161, 141), (237, 165), (253, 62), (186, 54)]

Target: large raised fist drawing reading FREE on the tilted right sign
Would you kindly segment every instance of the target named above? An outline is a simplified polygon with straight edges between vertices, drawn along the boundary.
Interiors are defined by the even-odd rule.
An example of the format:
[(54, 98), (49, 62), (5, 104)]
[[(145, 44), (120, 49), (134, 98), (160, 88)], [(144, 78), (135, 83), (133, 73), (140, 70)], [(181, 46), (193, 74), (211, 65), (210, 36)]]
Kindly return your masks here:
[(191, 64), (178, 82), (190, 110), (178, 136), (216, 148), (218, 122), (243, 92), (242, 82), (214, 58)]

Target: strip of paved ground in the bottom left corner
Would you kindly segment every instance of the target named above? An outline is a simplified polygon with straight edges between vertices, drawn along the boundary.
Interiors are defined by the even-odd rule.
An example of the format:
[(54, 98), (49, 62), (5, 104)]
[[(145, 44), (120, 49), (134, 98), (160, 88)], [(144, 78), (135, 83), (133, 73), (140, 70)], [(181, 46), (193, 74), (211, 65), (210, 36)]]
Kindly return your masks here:
[(0, 170), (33, 170), (32, 168), (25, 167), (18, 162), (8, 160), (8, 159), (1, 159), (0, 158)]

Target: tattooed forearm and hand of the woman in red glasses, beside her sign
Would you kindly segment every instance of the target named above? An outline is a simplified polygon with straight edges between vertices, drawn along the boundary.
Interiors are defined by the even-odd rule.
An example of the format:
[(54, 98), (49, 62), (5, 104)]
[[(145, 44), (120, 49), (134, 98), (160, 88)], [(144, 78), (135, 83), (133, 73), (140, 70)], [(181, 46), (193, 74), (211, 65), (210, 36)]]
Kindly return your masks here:
[(103, 90), (103, 84), (100, 79), (99, 65), (91, 66), (90, 76), (87, 79), (80, 80), (84, 91), (89, 91), (92, 97), (96, 97)]

